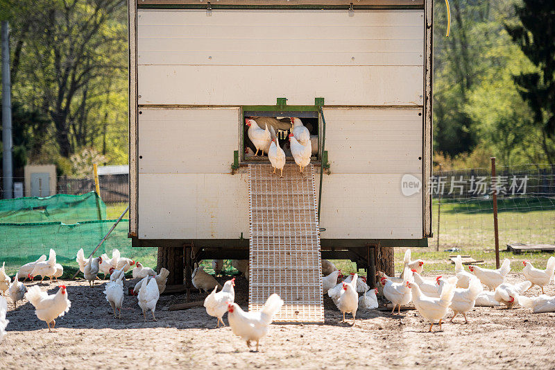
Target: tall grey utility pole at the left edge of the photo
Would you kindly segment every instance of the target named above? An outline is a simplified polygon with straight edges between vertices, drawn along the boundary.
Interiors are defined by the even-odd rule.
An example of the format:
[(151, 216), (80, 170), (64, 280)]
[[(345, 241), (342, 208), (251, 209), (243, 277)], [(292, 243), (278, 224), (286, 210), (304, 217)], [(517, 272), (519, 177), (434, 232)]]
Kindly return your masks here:
[(2, 169), (3, 197), (12, 199), (12, 99), (10, 83), (10, 45), (8, 44), (8, 21), (2, 21)]

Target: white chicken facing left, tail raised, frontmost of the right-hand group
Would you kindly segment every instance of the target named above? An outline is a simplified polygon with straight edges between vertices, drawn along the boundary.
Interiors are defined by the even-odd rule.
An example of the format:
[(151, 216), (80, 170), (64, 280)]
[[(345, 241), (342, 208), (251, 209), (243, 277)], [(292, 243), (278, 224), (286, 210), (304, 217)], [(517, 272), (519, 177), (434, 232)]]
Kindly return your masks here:
[(439, 298), (426, 296), (416, 283), (407, 281), (407, 287), (413, 291), (412, 301), (414, 302), (414, 307), (416, 307), (416, 310), (418, 310), (422, 317), (430, 322), (428, 331), (432, 332), (432, 326), (434, 326), (436, 321), (439, 321), (439, 330), (441, 330), (441, 321), (452, 303), (455, 285), (448, 284), (443, 289), (443, 292), (441, 292)]

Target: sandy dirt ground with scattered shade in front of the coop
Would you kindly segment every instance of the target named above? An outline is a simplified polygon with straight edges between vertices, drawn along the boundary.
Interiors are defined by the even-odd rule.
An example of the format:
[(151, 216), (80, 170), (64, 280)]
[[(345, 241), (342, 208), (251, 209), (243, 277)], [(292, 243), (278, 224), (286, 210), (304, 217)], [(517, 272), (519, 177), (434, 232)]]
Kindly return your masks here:
[[(508, 280), (520, 279), (512, 274)], [(229, 327), (214, 329), (216, 319), (204, 308), (169, 311), (169, 305), (184, 301), (183, 295), (162, 296), (158, 321), (145, 323), (136, 297), (126, 296), (122, 318), (114, 319), (103, 285), (90, 288), (83, 280), (63, 283), (71, 310), (56, 320), (55, 333), (48, 333), (30, 303), (24, 301), (14, 310), (8, 300), (10, 323), (0, 343), (0, 369), (555, 369), (555, 313), (475, 308), (468, 314), (470, 323), (458, 317), (456, 323), (445, 323), (442, 331), (427, 333), (427, 321), (416, 310), (400, 315), (359, 311), (352, 327), (340, 322), (339, 310), (327, 298), (325, 324), (273, 324), (260, 351), (253, 353)], [(51, 293), (58, 289), (57, 284), (40, 286)], [(538, 292), (534, 287), (526, 295)], [(555, 295), (554, 285), (546, 293)], [(241, 278), (236, 301), (245, 309), (247, 295)]]

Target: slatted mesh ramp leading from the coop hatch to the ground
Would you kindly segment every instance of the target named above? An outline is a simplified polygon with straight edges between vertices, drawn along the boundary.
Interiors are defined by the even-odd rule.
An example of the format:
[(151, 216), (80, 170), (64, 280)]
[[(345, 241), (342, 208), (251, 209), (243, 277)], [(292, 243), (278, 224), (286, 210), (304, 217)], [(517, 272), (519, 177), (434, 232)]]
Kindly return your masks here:
[(314, 167), (299, 173), (285, 165), (249, 165), (250, 267), (248, 309), (260, 310), (270, 294), (284, 306), (274, 321), (323, 322), (320, 229)]

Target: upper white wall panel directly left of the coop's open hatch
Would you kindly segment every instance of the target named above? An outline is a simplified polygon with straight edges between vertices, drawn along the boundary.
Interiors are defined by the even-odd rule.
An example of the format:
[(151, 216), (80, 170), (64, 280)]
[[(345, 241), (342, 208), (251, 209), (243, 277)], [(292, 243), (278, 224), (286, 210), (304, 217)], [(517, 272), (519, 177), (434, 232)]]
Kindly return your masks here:
[(142, 108), (139, 174), (231, 172), (238, 108)]

